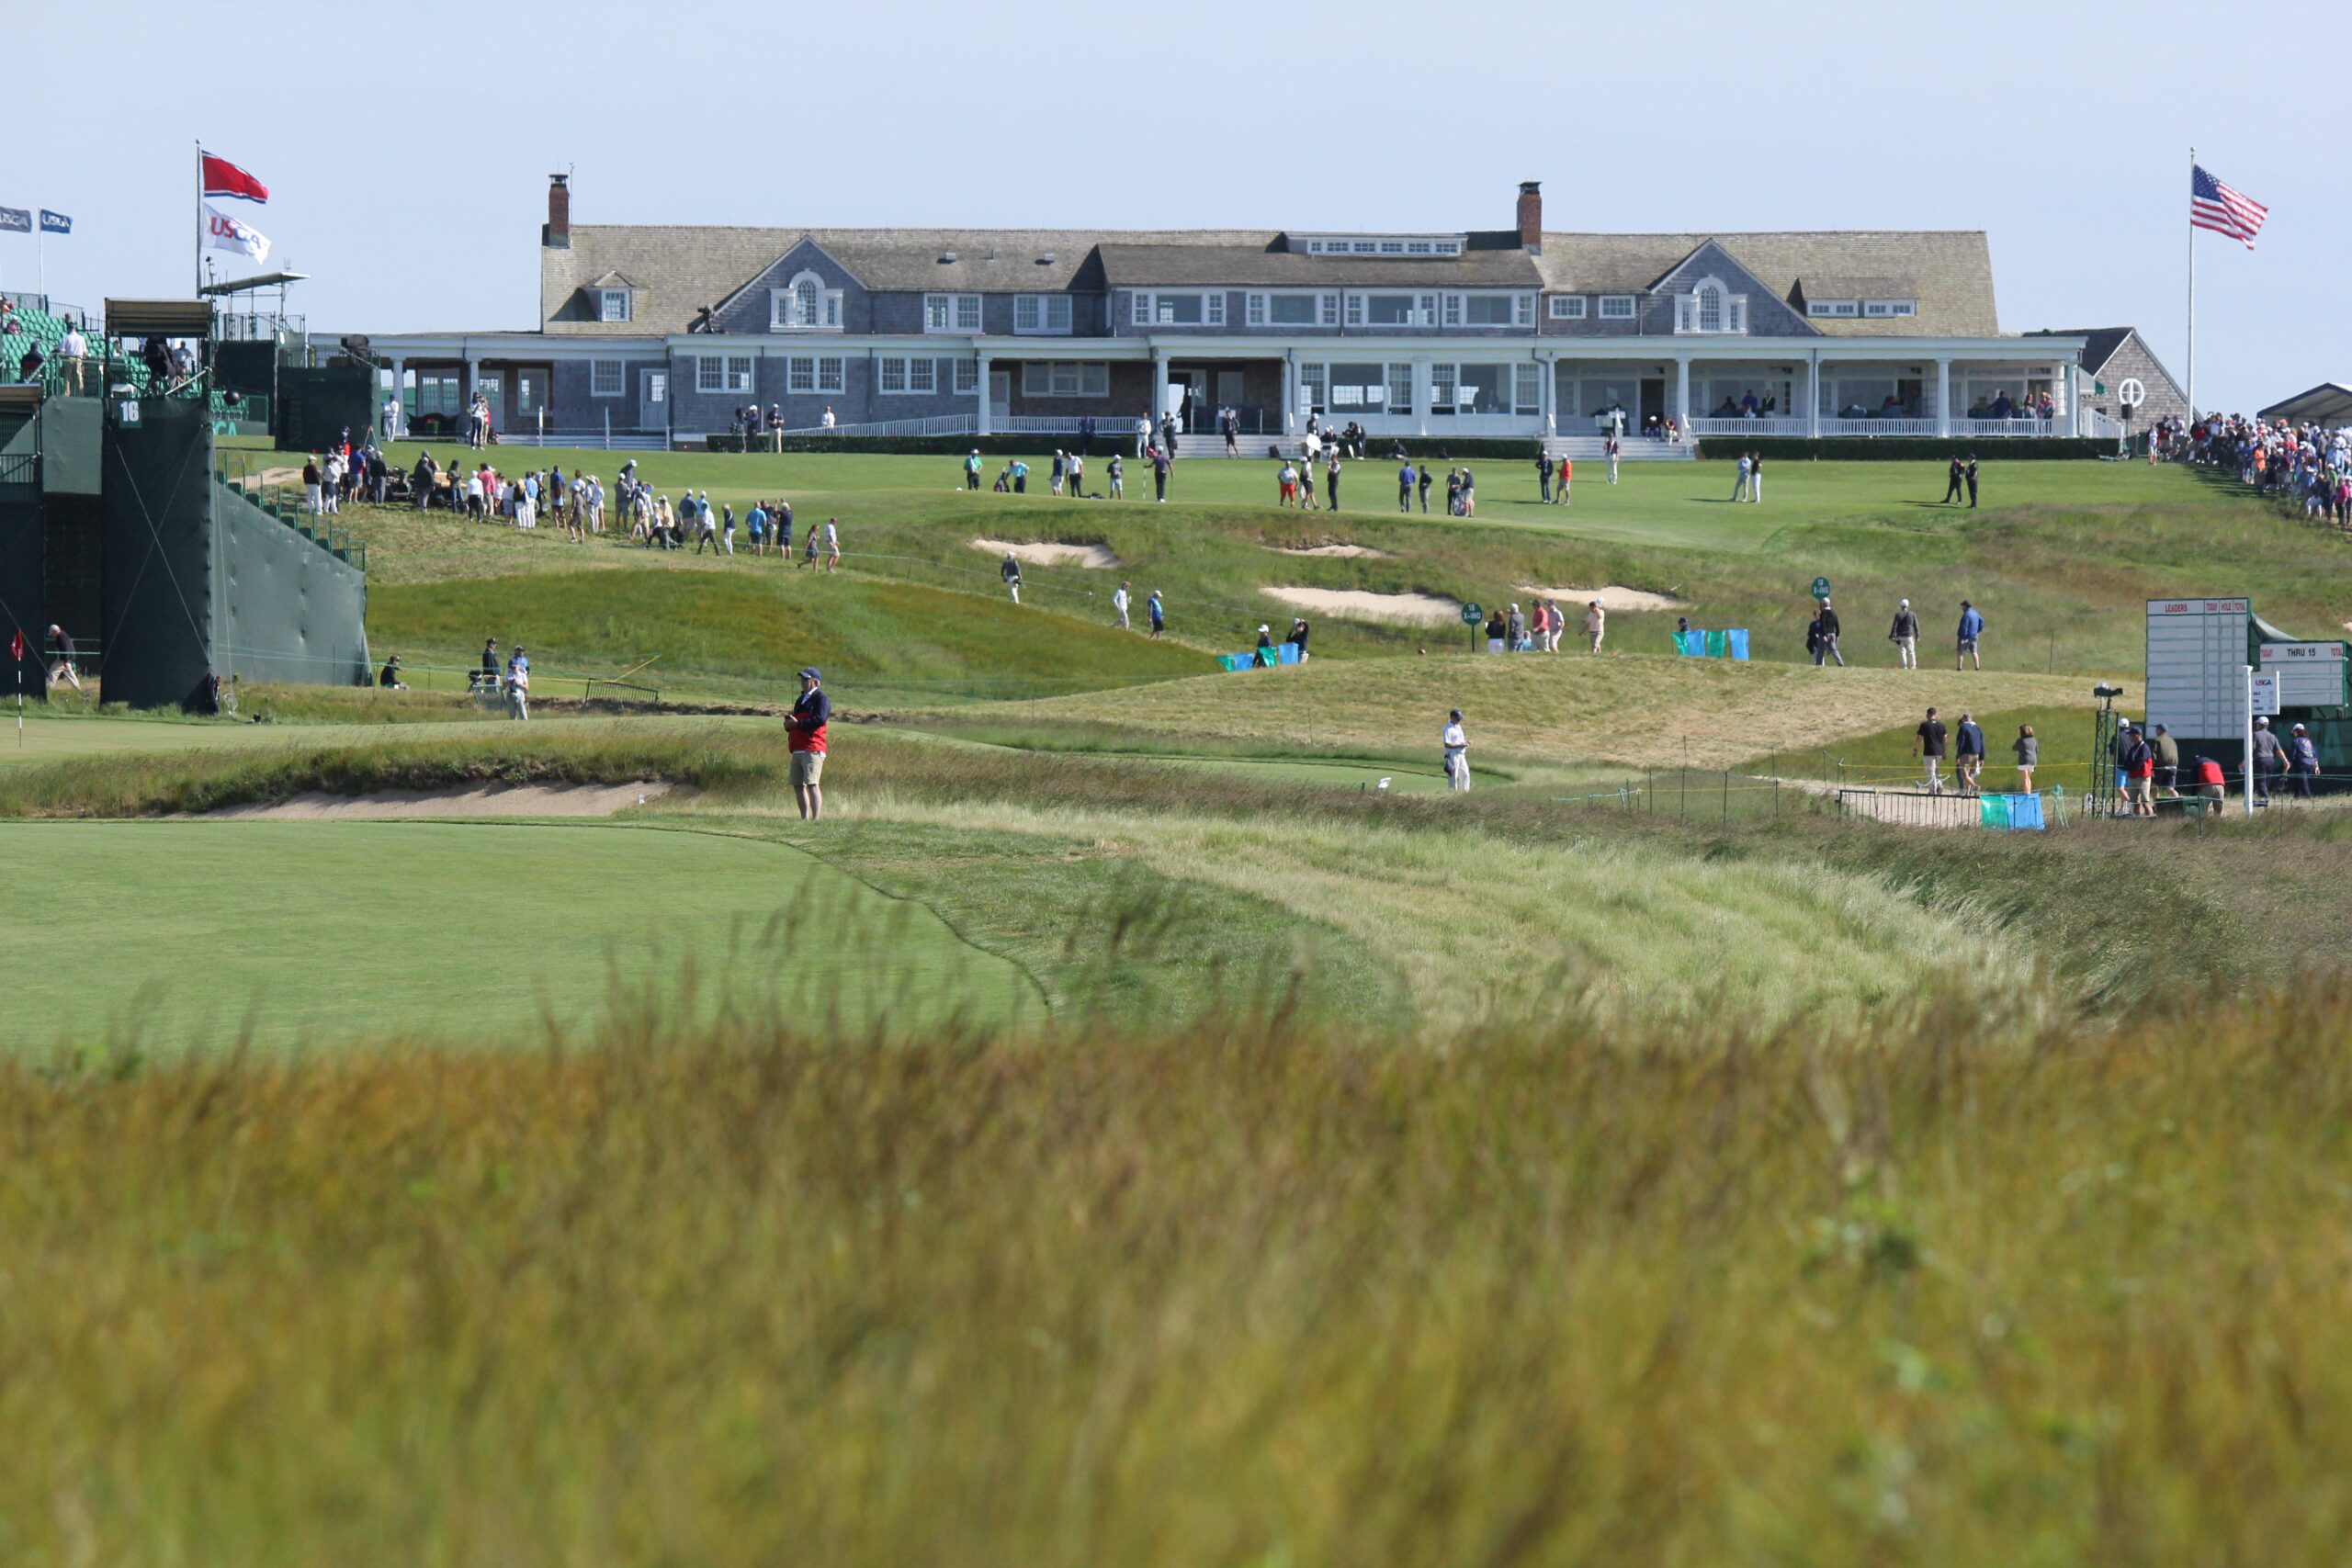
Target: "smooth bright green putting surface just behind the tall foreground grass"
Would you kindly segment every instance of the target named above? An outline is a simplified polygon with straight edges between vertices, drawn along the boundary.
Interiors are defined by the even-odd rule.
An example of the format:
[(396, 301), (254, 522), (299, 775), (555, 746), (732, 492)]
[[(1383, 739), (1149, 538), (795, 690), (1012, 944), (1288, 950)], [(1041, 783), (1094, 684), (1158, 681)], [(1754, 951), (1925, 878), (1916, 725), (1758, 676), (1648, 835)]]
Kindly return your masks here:
[(1035, 1016), (929, 907), (710, 832), (541, 823), (7, 823), (0, 1048), (492, 1044), (612, 997), (858, 1030)]

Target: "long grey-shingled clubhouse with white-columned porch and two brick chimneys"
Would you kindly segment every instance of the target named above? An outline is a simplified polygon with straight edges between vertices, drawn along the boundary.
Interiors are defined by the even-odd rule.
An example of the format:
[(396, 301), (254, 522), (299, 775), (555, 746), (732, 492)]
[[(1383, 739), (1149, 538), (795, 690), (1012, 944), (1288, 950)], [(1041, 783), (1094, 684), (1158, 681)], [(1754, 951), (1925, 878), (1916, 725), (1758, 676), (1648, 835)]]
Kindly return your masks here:
[[(574, 226), (548, 188), (532, 331), (376, 334), (409, 433), (475, 393), (499, 440), (694, 442), (741, 409), (837, 435), (1249, 451), (1371, 435), (1597, 440), (2112, 433), (2070, 336), (2002, 334), (1976, 230), (1588, 235)], [(828, 418), (830, 414), (830, 418)], [(1578, 440), (1581, 437), (1581, 440)], [(1195, 447), (1197, 444), (1197, 447)]]

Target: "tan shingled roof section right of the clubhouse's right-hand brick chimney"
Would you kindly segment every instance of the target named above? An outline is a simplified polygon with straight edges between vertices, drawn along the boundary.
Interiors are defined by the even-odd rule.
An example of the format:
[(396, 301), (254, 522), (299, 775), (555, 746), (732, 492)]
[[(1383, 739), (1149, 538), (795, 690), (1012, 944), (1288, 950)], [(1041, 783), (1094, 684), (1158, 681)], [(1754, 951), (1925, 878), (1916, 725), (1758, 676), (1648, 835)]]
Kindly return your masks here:
[[(1797, 280), (1905, 280), (1919, 301), (1905, 317), (1820, 317), (1830, 336), (1985, 339), (1999, 334), (1992, 306), (1992, 249), (1983, 230), (1820, 230), (1733, 235), (1566, 235), (1545, 233), (1543, 282), (1571, 294), (1639, 294), (1715, 240), (1757, 282), (1797, 299)], [(1825, 294), (1825, 299), (1863, 299)], [(1870, 299), (1886, 299), (1872, 294)]]

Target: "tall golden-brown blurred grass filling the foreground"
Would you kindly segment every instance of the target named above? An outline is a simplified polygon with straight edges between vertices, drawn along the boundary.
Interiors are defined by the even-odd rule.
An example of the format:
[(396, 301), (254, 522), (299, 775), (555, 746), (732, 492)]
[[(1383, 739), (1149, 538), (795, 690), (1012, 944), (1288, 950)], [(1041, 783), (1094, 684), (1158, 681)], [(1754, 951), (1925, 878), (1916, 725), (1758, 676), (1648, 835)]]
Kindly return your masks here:
[[(0, 1063), (12, 1563), (2303, 1563), (2352, 992)], [(581, 1048), (576, 1048), (581, 1046)], [(586, 1048), (593, 1046), (593, 1048)]]

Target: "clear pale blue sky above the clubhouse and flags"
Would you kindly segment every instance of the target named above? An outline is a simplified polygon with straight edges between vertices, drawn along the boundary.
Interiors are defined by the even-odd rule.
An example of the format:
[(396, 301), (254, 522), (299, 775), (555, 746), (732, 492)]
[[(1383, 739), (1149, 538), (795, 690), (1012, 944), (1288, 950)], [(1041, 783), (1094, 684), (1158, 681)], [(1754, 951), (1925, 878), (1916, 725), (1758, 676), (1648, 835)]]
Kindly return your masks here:
[[(2004, 331), (2138, 327), (2185, 378), (2194, 146), (2270, 207), (2253, 252), (2197, 237), (2197, 402), (2251, 411), (2352, 381), (2352, 5), (2265, 7), (2258, 49), (2223, 14), (92, 0), (12, 52), (200, 87), (16, 106), (0, 205), (73, 216), (54, 299), (186, 296), (202, 139), (268, 183), (228, 207), (313, 331), (423, 331), (536, 324), (560, 169), (574, 223), (779, 228), (1510, 228), (1541, 179), (1552, 230), (1983, 228)], [(0, 235), (0, 287), (35, 282)]]

